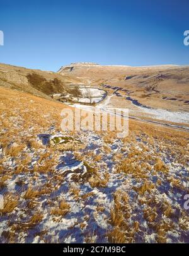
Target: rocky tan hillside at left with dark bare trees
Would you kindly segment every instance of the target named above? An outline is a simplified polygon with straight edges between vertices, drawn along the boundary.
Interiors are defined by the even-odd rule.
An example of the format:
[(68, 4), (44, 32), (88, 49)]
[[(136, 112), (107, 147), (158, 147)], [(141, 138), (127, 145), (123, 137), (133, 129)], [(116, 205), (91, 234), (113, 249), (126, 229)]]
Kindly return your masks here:
[[(0, 86), (25, 91), (42, 98), (53, 93), (71, 93), (69, 84), (74, 81), (52, 71), (27, 69), (25, 67), (0, 64)], [(76, 79), (77, 83), (79, 79)]]

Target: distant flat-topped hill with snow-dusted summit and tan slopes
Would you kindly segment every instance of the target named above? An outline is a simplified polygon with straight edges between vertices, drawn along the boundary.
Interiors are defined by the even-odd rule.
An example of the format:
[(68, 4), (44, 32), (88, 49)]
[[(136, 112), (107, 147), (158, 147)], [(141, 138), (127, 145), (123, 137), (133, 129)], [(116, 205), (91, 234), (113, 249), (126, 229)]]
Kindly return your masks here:
[[(123, 88), (134, 100), (147, 107), (179, 112), (189, 111), (188, 66), (131, 67), (74, 63), (61, 67), (58, 73), (66, 78), (79, 79), (79, 83), (90, 86), (106, 86), (106, 89), (110, 89), (110, 93), (118, 87)], [(114, 105), (117, 103), (115, 102)], [(128, 106), (125, 100), (122, 103), (121, 98), (119, 103)]]

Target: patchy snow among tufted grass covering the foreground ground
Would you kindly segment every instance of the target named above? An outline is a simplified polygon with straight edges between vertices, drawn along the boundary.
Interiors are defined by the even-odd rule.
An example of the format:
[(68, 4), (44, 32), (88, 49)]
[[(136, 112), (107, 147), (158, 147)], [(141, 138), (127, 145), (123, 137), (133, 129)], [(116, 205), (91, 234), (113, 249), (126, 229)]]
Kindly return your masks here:
[[(44, 134), (47, 136), (48, 133), (44, 132)], [(62, 134), (60, 135), (62, 136)], [(146, 166), (143, 175), (147, 177), (147, 183), (154, 185), (151, 185), (150, 190), (146, 189), (139, 193), (138, 189), (144, 185), (146, 178), (142, 178), (142, 176), (139, 178), (130, 172), (118, 172), (118, 168), (122, 165), (121, 159), (127, 159), (129, 153), (132, 152), (130, 151), (132, 143), (125, 144), (117, 138), (106, 141), (105, 137), (91, 131), (79, 132), (77, 137), (86, 144), (86, 148), (77, 152), (64, 151), (61, 153), (56, 151), (54, 157), (57, 159), (57, 164), (54, 166), (54, 172), (28, 172), (27, 175), (18, 173), (7, 181), (8, 191), (13, 194), (19, 193), (20, 199), (18, 206), (9, 216), (0, 217), (1, 242), (6, 241), (5, 232), (8, 232), (9, 236), (12, 234), (15, 241), (19, 243), (83, 243), (89, 241), (103, 243), (112, 241), (108, 238), (108, 232), (113, 228), (111, 211), (115, 211), (113, 210), (115, 207), (114, 198), (117, 193), (117, 196), (120, 196), (121, 204), (125, 204), (124, 201), (121, 201), (122, 194), (124, 197), (128, 197), (129, 205), (127, 207), (129, 208), (127, 215), (123, 218), (125, 218), (130, 231), (134, 230), (135, 225), (139, 225), (139, 230), (135, 231), (132, 238), (130, 238), (129, 232), (128, 241), (131, 239), (133, 242), (156, 243), (159, 237), (156, 231), (157, 227), (152, 228), (151, 224), (161, 226), (164, 223), (168, 230), (166, 235), (162, 236), (163, 238), (166, 237), (166, 241), (188, 242), (188, 217), (184, 213), (179, 218), (174, 217), (176, 212), (183, 211), (183, 195), (188, 187), (188, 180), (186, 179), (188, 170), (174, 160), (166, 148), (161, 151), (160, 155), (168, 172), (155, 172), (154, 169)], [(44, 146), (47, 146), (47, 141), (42, 136), (38, 136), (38, 142), (43, 142)], [(149, 146), (145, 153), (144, 147), (148, 148), (148, 142), (144, 141), (144, 137), (137, 137), (135, 154), (138, 155), (138, 158), (140, 155), (151, 156), (147, 165), (153, 166), (153, 161), (156, 161), (154, 151), (158, 152), (160, 145), (161, 143), (156, 143), (156, 146)], [(33, 166), (38, 163), (38, 158), (30, 149), (25, 150), (31, 155), (30, 169), (32, 170)], [(47, 149), (40, 150), (45, 152)], [(144, 152), (142, 153), (142, 151)], [(2, 150), (1, 157), (3, 157)], [(98, 157), (98, 161), (94, 162), (96, 157)], [(4, 168), (12, 172), (16, 166), (14, 160), (9, 157), (3, 159)], [(95, 169), (100, 175), (100, 177), (95, 176), (96, 179), (100, 178), (102, 181), (106, 181), (102, 182), (102, 185), (95, 185), (92, 178), (86, 179), (85, 175), (89, 172), (88, 166), (94, 166), (94, 163)], [(134, 166), (135, 164), (138, 165), (142, 170), (143, 163), (139, 159), (133, 164)], [(138, 172), (140, 173), (140, 169)], [(59, 177), (60, 180), (56, 180), (55, 177)], [(23, 181), (24, 186), (19, 185), (20, 180)], [(179, 186), (175, 187), (176, 185), (171, 183), (173, 180), (179, 180)], [(30, 200), (30, 197), (29, 199), (26, 197), (26, 191), (29, 187), (36, 190), (46, 187), (46, 189), (50, 188), (50, 191), (47, 189), (46, 192), (41, 192), (40, 197), (36, 196)], [(154, 202), (149, 204), (148, 201), (152, 199)], [(52, 209), (56, 209), (56, 207), (59, 209), (62, 200), (69, 205), (67, 213), (65, 215), (53, 214)], [(35, 205), (35, 208), (31, 208), (30, 211), (42, 213), (42, 219), (39, 223), (34, 223), (33, 226), (31, 225), (30, 228), (26, 229), (27, 225), (30, 226), (31, 221), (27, 213), (27, 204), (30, 201)], [(166, 210), (169, 206), (171, 209), (167, 213)], [(155, 211), (154, 209), (157, 211), (155, 215), (151, 213), (151, 211)], [(144, 214), (146, 211), (152, 214), (154, 222), (151, 223), (150, 217)], [(14, 224), (10, 226), (9, 221)], [(182, 229), (182, 226), (185, 228)], [(121, 226), (120, 230), (122, 230)]]

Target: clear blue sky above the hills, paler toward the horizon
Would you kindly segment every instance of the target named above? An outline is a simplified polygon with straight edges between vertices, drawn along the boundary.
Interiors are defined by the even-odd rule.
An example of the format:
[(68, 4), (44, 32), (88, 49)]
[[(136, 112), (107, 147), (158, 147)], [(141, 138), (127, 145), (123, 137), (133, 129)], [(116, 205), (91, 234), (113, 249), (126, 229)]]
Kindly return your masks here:
[(0, 62), (16, 66), (189, 64), (188, 0), (0, 0), (0, 30)]

